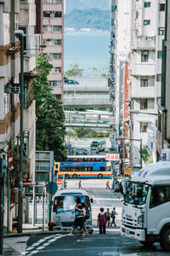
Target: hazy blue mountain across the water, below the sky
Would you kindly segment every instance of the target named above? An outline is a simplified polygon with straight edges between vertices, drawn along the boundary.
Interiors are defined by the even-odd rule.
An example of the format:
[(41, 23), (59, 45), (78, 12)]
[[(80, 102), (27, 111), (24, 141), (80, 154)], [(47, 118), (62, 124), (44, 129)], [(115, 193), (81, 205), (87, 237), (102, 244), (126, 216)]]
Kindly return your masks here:
[(65, 27), (110, 30), (110, 26), (111, 11), (109, 9), (75, 9), (65, 15)]

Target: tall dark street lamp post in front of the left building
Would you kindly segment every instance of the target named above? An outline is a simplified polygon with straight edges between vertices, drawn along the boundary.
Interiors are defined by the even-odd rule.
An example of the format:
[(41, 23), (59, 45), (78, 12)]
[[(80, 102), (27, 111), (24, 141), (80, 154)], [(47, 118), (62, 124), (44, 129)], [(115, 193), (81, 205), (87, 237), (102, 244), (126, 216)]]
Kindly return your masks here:
[(18, 233), (22, 233), (23, 221), (23, 151), (24, 151), (24, 133), (23, 133), (23, 87), (24, 87), (24, 32), (22, 30), (14, 31), (15, 37), (20, 39), (20, 184), (19, 184), (19, 206), (18, 206)]

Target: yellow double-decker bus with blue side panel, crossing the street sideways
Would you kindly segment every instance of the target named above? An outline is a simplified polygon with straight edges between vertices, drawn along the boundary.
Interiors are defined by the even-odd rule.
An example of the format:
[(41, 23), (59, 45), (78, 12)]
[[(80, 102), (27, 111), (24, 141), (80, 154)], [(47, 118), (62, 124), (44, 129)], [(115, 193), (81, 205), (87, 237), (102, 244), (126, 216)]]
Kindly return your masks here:
[(111, 161), (105, 155), (68, 155), (65, 162), (54, 162), (54, 177), (112, 177)]

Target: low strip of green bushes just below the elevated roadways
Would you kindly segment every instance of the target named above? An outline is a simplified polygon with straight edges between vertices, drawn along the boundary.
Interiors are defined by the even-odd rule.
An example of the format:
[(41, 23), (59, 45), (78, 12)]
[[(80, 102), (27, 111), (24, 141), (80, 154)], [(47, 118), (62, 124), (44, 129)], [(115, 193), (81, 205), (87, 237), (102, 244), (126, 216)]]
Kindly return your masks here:
[(109, 133), (94, 131), (87, 128), (74, 128), (73, 131), (70, 131), (70, 136), (74, 137), (109, 137)]

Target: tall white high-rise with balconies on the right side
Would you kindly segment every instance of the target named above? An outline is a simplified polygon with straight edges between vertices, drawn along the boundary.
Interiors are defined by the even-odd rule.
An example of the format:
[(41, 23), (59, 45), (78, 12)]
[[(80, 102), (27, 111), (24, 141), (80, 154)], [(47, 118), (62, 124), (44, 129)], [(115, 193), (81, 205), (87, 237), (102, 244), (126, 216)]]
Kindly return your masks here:
[[(124, 132), (129, 139), (142, 139), (143, 148), (156, 161), (158, 116), (151, 113), (157, 113), (157, 102), (161, 99), (165, 1), (126, 1), (127, 10), (121, 2), (117, 2), (116, 10), (116, 60), (119, 61), (116, 65), (115, 111), (116, 125), (122, 126), (122, 133), (117, 131), (117, 134)], [(127, 22), (124, 24), (122, 20)], [(140, 113), (128, 114), (130, 109)], [(133, 152), (133, 166), (138, 166), (139, 142), (134, 141), (129, 151)]]

